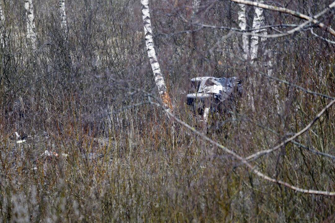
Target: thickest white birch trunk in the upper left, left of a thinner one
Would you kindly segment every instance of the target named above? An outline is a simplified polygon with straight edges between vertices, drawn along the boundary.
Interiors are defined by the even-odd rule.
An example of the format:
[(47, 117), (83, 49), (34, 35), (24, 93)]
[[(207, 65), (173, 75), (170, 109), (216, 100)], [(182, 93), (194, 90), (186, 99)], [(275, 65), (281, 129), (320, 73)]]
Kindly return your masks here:
[(34, 8), (32, 7), (32, 0), (24, 0), (24, 8), (27, 19), (27, 40), (30, 41), (31, 48), (36, 49), (36, 33), (34, 22)]

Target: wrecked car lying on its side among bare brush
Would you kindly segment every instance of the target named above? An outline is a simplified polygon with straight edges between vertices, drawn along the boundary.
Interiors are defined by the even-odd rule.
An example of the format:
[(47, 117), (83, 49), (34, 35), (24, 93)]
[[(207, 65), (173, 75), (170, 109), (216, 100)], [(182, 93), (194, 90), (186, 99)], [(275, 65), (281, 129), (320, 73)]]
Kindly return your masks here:
[(194, 115), (203, 115), (206, 122), (209, 115), (220, 118), (236, 109), (236, 99), (241, 97), (243, 91), (242, 80), (237, 77), (197, 77), (192, 78), (191, 82), (195, 93), (187, 95), (187, 104)]

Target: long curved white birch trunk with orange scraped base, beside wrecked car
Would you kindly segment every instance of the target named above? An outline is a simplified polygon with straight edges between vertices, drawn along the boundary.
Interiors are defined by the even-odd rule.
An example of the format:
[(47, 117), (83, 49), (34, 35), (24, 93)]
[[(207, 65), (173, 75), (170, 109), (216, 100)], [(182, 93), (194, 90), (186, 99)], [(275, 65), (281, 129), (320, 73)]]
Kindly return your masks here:
[(163, 106), (170, 112), (172, 111), (171, 99), (169, 94), (167, 93), (166, 85), (162, 73), (160, 71), (155, 48), (153, 45), (149, 0), (141, 0), (141, 4), (142, 4), (142, 17), (144, 22), (144, 38), (153, 76), (158, 88), (159, 96), (162, 99)]

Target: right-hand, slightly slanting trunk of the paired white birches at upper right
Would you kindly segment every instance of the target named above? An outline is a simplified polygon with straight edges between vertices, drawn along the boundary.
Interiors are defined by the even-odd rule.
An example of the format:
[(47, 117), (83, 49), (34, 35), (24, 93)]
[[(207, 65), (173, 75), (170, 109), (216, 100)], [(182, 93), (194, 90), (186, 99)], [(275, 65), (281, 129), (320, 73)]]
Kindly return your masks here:
[[(263, 3), (263, 0), (256, 0), (257, 3)], [(259, 29), (261, 24), (264, 24), (264, 16), (263, 16), (263, 9), (256, 7), (255, 8), (255, 15), (254, 21), (252, 23), (253, 29)], [(260, 30), (253, 30), (253, 33), (259, 32)], [(254, 60), (257, 58), (257, 51), (259, 46), (259, 37), (258, 36), (251, 36), (250, 40), (250, 60), (251, 63), (254, 63)]]

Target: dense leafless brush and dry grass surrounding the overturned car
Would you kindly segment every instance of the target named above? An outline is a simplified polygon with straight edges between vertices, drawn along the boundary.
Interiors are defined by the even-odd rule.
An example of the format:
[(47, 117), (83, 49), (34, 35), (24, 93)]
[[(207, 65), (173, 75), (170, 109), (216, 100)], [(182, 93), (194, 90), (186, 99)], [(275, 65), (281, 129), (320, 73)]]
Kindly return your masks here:
[[(334, 196), (300, 193), (259, 178), (148, 101), (158, 93), (140, 1), (66, 1), (64, 30), (59, 1), (33, 0), (35, 48), (26, 37), (24, 2), (0, 3), (5, 40), (0, 51), (2, 222), (335, 220)], [(264, 3), (313, 17), (332, 2)], [(260, 41), (258, 56), (250, 61), (242, 32), (231, 29), (240, 29), (239, 7), (202, 0), (193, 16), (190, 0), (149, 1), (174, 116), (197, 129), (186, 105), (191, 78), (240, 78), (245, 93), (237, 109), (225, 117), (222, 129), (203, 135), (248, 157), (299, 132), (334, 100), (335, 37), (309, 23), (290, 35)], [(251, 29), (255, 7), (247, 5), (246, 12)], [(334, 13), (330, 9), (318, 21), (335, 27)], [(268, 34), (306, 21), (272, 10), (263, 16)], [(299, 188), (335, 191), (334, 111), (327, 109), (295, 143), (250, 163)], [(15, 143), (15, 131), (29, 136), (27, 141)], [(45, 150), (69, 156), (41, 157)]]

